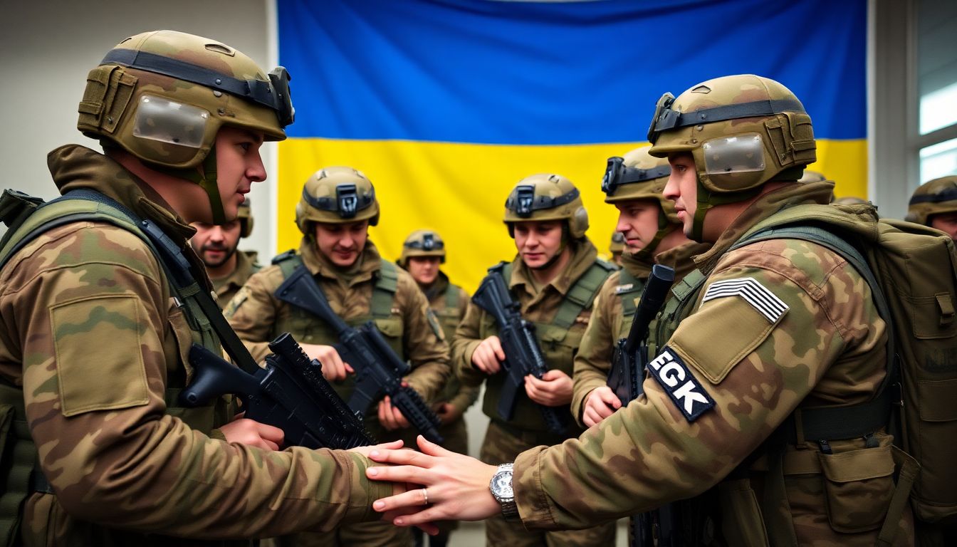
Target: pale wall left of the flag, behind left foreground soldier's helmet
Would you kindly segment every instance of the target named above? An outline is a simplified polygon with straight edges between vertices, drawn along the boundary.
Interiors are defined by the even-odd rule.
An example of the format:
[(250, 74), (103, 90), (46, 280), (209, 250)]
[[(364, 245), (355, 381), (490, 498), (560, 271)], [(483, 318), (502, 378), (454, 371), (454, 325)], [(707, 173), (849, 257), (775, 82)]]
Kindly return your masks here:
[[(114, 45), (159, 29), (208, 36), (273, 68), (267, 32), (270, 0), (0, 0), (0, 165), (2, 188), (53, 198), (47, 153), (78, 143), (99, 149), (77, 130), (86, 75)], [(267, 168), (275, 146), (265, 149)], [(273, 207), (266, 184), (253, 187), (256, 231), (241, 246), (269, 259)]]

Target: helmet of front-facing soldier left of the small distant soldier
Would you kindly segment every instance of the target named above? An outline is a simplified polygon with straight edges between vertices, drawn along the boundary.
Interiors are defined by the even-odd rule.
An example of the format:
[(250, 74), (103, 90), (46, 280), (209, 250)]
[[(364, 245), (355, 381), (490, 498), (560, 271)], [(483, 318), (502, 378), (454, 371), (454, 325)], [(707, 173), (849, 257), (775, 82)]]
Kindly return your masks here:
[(296, 205), (296, 225), (311, 235), (309, 222), (344, 224), (368, 220), (379, 223), (379, 200), (372, 181), (356, 169), (333, 166), (316, 171), (305, 181)]

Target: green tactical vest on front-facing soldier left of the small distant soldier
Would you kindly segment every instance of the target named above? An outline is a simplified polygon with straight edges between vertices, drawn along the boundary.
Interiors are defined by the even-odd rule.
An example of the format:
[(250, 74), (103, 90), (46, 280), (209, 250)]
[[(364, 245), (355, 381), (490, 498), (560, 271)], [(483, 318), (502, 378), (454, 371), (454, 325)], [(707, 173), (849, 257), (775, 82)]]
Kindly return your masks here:
[[(274, 264), (278, 264), (282, 272), (282, 279), (288, 278), (298, 267), (305, 267), (302, 263), (302, 257), (294, 251), (287, 251), (273, 259)], [(372, 285), (372, 299), (367, 313), (345, 321), (349, 327), (359, 327), (369, 320), (375, 322), (386, 340), (389, 347), (396, 355), (405, 358), (404, 330), (405, 325), (402, 322), (401, 315), (392, 313), (395, 292), (398, 290), (398, 267), (387, 261), (382, 261), (375, 282)], [(318, 285), (317, 285), (318, 286)], [(320, 287), (322, 290), (322, 287)], [(339, 342), (339, 336), (322, 319), (316, 317), (312, 312), (296, 306), (289, 306), (289, 315), (285, 319), (280, 319), (273, 326), (271, 337), (277, 336), (282, 332), (291, 332), (293, 336), (302, 344), (334, 345)], [(333, 388), (345, 400), (352, 396), (352, 390), (355, 388), (355, 377), (346, 375), (344, 379), (334, 380)]]

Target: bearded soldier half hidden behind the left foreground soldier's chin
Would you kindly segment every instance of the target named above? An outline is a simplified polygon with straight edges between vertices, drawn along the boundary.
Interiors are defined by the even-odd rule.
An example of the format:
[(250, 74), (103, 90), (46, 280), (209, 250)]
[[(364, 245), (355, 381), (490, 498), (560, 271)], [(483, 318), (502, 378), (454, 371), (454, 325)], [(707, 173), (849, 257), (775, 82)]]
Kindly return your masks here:
[(239, 205), (238, 217), (221, 226), (206, 222), (190, 224), (196, 235), (189, 239), (196, 254), (206, 264), (216, 300), (225, 306), (249, 276), (262, 269), (256, 251), (238, 251), (239, 239), (253, 233), (253, 210), (247, 197)]

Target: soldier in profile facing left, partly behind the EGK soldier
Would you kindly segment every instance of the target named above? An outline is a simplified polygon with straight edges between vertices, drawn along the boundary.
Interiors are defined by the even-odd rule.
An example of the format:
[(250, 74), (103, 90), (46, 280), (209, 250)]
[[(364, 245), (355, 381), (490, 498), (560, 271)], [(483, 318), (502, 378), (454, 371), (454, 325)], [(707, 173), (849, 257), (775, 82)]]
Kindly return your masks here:
[(662, 195), (671, 168), (653, 157), (650, 147), (635, 148), (624, 158), (609, 158), (602, 181), (605, 202), (618, 210), (615, 234), (626, 245), (622, 269), (602, 285), (595, 297), (589, 327), (575, 355), (571, 414), (590, 427), (612, 415), (621, 401), (607, 385), (615, 343), (628, 336), (638, 298), (652, 266), (676, 269), (676, 280), (694, 269), (691, 257), (709, 247), (687, 239), (675, 204)]

